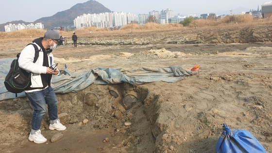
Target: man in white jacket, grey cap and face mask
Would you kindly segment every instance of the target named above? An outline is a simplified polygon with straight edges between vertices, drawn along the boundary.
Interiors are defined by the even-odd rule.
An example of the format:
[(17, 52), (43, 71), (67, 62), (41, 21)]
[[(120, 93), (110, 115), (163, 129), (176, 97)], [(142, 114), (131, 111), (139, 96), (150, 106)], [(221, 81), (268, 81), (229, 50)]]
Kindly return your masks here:
[(19, 67), (30, 72), (31, 86), (26, 88), (25, 94), (31, 102), (34, 109), (32, 116), (31, 133), (28, 137), (34, 143), (44, 143), (47, 139), (41, 135), (41, 121), (46, 114), (46, 104), (48, 106), (48, 115), (50, 118), (50, 130), (63, 131), (66, 129), (58, 119), (58, 99), (51, 87), (52, 75), (59, 75), (59, 70), (54, 68), (54, 57), (52, 50), (57, 47), (59, 33), (55, 30), (47, 31), (44, 37), (33, 41), (39, 49), (39, 57), (35, 63), (35, 49), (33, 45), (26, 46), (18, 59)]

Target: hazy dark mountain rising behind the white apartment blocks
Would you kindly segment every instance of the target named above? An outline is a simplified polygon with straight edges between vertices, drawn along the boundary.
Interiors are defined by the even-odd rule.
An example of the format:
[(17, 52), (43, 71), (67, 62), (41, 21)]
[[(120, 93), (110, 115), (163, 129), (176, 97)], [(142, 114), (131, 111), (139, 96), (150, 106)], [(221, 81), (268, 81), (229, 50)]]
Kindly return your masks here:
[[(78, 16), (82, 16), (83, 14), (99, 14), (103, 12), (111, 12), (108, 8), (103, 6), (101, 3), (95, 0), (88, 0), (84, 3), (78, 3), (72, 6), (70, 9), (61, 11), (56, 13), (51, 17), (42, 17), (34, 21), (35, 23), (43, 23), (45, 29), (54, 29), (54, 27), (62, 27), (62, 26), (73, 26), (74, 19)], [(9, 23), (31, 23), (24, 22), (22, 20), (7, 22), (4, 24), (0, 24), (0, 31), (5, 31), (4, 26)]]

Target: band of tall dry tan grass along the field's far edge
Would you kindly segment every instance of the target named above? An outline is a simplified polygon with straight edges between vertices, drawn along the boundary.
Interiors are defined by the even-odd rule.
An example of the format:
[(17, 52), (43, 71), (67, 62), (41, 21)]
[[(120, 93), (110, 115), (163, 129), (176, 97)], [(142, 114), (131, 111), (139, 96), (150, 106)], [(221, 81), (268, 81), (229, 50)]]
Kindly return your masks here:
[[(236, 22), (238, 24), (236, 25)], [(226, 16), (222, 19), (211, 20), (211, 19), (199, 19), (196, 20), (197, 29), (208, 29), (208, 28), (223, 28), (231, 26), (256, 26), (256, 25), (271, 25), (272, 18), (268, 19), (254, 19), (248, 15), (233, 15)], [(145, 25), (129, 24), (125, 25), (119, 30), (110, 31), (107, 28), (96, 28), (96, 27), (86, 27), (83, 29), (76, 29), (75, 33), (77, 35), (90, 34), (126, 34), (126, 33), (143, 33), (143, 32), (163, 32), (163, 31), (181, 31), (194, 29), (195, 23), (192, 22), (188, 27), (183, 27), (183, 25), (178, 23), (170, 24), (156, 24), (153, 22), (146, 23)], [(46, 30), (41, 29), (24, 29), (20, 31), (13, 31), (9, 33), (2, 33), (4, 38), (29, 38), (29, 37), (42, 37)], [(71, 37), (73, 32), (59, 31), (60, 35), (63, 37)]]

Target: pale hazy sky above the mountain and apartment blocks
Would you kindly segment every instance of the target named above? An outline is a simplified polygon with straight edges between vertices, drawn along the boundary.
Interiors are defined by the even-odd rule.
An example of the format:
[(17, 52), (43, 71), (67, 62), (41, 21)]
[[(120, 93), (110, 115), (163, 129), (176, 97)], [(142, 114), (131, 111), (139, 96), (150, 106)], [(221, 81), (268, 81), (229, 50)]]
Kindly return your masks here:
[[(34, 22), (41, 17), (51, 17), (57, 12), (68, 10), (77, 3), (88, 0), (0, 0), (0, 24), (13, 20)], [(150, 11), (170, 9), (174, 15), (204, 14), (228, 11), (238, 7), (261, 9), (269, 0), (96, 0), (116, 12), (130, 12), (135, 15)], [(244, 10), (249, 11), (249, 10)], [(221, 12), (218, 12), (221, 13)], [(235, 12), (234, 12), (235, 13)], [(225, 13), (226, 14), (226, 13)]]

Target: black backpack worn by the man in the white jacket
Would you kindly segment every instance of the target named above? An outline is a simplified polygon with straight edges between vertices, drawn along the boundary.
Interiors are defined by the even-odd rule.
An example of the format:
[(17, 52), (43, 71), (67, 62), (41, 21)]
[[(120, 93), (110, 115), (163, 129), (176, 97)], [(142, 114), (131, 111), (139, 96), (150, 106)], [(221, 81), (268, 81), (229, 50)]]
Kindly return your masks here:
[[(30, 45), (30, 44), (28, 44)], [(27, 46), (28, 46), (27, 45)], [(39, 57), (39, 49), (35, 44), (31, 44), (35, 48), (35, 63)], [(20, 53), (17, 54), (17, 59), (13, 60), (10, 65), (10, 70), (5, 78), (4, 84), (6, 89), (9, 92), (15, 93), (17, 97), (17, 93), (23, 92), (27, 87), (31, 85), (31, 75), (26, 70), (19, 67), (18, 59), (20, 57)]]

